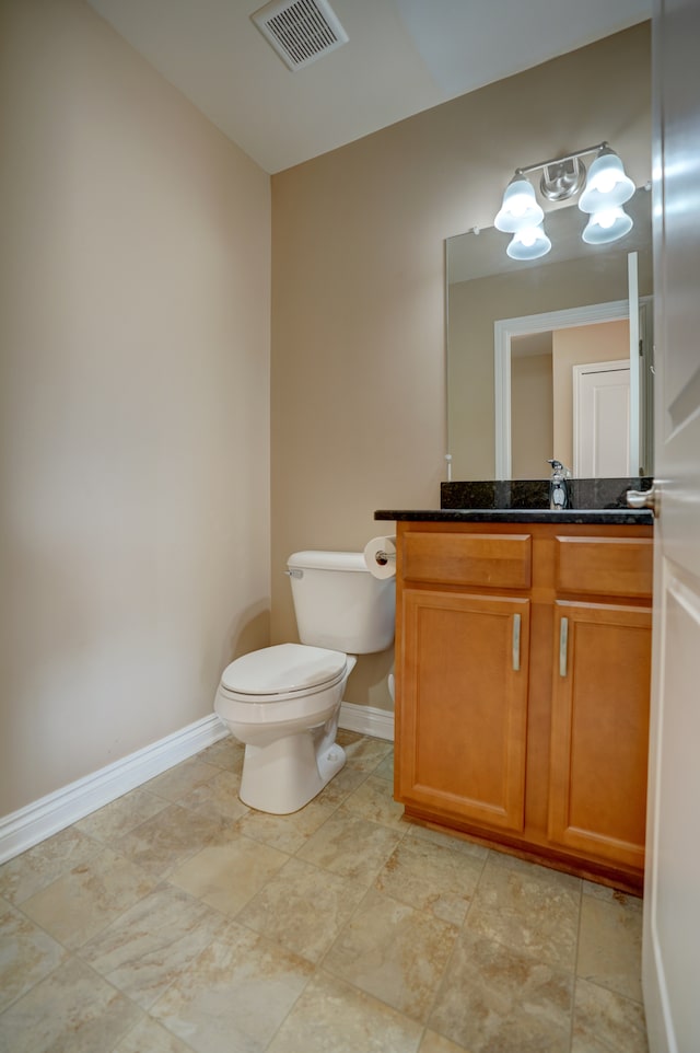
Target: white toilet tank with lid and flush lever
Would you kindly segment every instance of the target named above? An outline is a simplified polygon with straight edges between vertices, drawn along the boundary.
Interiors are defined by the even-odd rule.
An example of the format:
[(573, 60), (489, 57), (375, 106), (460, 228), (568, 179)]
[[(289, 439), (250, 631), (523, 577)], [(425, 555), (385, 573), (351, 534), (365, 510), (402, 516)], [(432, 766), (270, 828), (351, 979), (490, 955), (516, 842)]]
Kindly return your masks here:
[(395, 582), (374, 578), (363, 553), (295, 552), (287, 566), (302, 644), (347, 655), (390, 647)]

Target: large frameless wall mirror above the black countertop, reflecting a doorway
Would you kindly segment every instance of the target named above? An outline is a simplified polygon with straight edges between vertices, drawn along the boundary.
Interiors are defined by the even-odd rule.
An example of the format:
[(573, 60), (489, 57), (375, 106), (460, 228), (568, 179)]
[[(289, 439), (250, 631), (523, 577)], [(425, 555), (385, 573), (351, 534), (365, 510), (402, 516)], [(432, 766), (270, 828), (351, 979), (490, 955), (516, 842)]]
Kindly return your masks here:
[(547, 213), (551, 252), (510, 259), (494, 228), (446, 240), (448, 452), (455, 479), (653, 474), (651, 193), (607, 245), (575, 205)]

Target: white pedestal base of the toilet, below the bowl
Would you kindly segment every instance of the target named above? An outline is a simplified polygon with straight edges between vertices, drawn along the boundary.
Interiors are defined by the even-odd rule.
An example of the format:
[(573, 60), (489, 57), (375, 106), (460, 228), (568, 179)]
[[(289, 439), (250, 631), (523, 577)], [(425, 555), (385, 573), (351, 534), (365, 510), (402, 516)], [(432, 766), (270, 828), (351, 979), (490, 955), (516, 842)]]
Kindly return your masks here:
[(317, 728), (283, 736), (269, 745), (247, 744), (238, 791), (243, 803), (289, 815), (313, 800), (346, 763), (345, 750), (334, 741), (336, 727), (332, 736), (327, 728)]

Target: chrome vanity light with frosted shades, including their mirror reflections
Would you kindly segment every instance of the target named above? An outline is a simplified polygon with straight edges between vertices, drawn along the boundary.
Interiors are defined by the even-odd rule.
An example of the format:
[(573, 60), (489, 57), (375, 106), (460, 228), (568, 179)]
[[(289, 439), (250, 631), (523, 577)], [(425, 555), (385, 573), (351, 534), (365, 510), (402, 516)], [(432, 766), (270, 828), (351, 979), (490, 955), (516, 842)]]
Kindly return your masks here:
[[(582, 158), (595, 153), (586, 178)], [(497, 230), (513, 234), (506, 248), (512, 259), (537, 259), (551, 248), (542, 225), (545, 212), (528, 180), (541, 170), (539, 190), (549, 201), (565, 201), (581, 193), (579, 208), (591, 213), (582, 238), (591, 245), (603, 245), (623, 238), (632, 229), (632, 220), (622, 205), (634, 194), (634, 183), (625, 173), (622, 162), (607, 142), (549, 161), (538, 161), (515, 174), (503, 194), (493, 220)]]

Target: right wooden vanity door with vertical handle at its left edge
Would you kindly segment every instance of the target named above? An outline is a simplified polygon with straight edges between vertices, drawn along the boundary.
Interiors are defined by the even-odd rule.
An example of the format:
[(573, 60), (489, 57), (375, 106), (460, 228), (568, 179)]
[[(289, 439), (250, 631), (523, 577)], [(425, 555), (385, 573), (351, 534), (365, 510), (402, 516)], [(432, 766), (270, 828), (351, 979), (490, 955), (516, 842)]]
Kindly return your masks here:
[(548, 835), (644, 866), (649, 609), (556, 604)]

